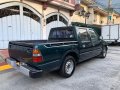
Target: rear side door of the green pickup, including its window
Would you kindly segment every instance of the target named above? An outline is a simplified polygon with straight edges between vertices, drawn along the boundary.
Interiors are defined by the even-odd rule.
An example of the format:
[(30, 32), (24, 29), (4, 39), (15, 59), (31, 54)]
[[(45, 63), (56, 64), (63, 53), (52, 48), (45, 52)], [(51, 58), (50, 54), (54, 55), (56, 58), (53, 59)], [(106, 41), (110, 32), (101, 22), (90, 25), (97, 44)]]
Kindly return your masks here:
[(88, 35), (87, 29), (78, 28), (77, 29), (78, 39), (79, 39), (79, 51), (80, 51), (80, 61), (87, 60), (93, 56), (92, 42)]

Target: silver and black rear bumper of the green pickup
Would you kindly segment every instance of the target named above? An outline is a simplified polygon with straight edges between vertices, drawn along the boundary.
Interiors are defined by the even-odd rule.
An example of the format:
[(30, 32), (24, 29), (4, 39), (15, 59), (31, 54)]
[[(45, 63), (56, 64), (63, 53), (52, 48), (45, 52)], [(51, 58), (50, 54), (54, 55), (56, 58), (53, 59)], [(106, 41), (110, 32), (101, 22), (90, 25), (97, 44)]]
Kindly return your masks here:
[(43, 70), (34, 69), (26, 64), (18, 65), (14, 59), (8, 58), (6, 59), (6, 62), (10, 64), (13, 68), (15, 68), (18, 72), (21, 72), (24, 75), (29, 76), (31, 78), (38, 78), (43, 72)]

